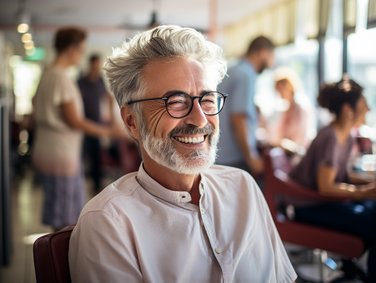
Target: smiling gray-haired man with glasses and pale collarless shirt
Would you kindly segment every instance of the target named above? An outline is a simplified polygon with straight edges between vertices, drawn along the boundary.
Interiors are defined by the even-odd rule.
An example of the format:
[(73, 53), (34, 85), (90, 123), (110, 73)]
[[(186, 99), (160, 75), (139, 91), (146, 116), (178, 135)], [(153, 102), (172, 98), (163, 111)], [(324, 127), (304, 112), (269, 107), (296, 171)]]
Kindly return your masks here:
[(213, 165), (227, 97), (216, 91), (221, 48), (193, 29), (159, 26), (116, 48), (105, 71), (143, 163), (82, 210), (73, 283), (293, 282), (255, 181)]

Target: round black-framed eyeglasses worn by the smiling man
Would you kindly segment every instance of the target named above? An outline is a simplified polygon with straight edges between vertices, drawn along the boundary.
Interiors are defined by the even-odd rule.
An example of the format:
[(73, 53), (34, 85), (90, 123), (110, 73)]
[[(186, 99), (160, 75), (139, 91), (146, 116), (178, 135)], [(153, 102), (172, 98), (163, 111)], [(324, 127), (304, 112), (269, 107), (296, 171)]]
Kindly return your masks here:
[(158, 100), (162, 99), (165, 101), (167, 113), (173, 118), (184, 118), (191, 113), (193, 108), (193, 101), (198, 98), (199, 104), (201, 106), (202, 112), (206, 115), (212, 116), (217, 115), (221, 112), (224, 104), (224, 100), (228, 94), (223, 94), (218, 91), (209, 91), (204, 93), (202, 96), (190, 96), (185, 93), (171, 94), (167, 97), (157, 97), (140, 99), (135, 101), (130, 101), (128, 105), (147, 100)]

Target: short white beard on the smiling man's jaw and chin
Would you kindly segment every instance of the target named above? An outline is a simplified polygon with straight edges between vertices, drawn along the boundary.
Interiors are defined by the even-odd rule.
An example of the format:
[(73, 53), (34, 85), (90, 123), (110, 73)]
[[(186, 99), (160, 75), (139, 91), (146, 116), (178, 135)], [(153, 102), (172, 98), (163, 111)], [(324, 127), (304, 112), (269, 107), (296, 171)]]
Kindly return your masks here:
[(146, 153), (158, 164), (179, 174), (202, 174), (211, 167), (217, 158), (219, 131), (211, 137), (208, 135), (209, 150), (193, 149), (183, 156), (175, 148), (174, 142), (167, 136), (164, 139), (152, 136), (140, 127), (143, 147)]

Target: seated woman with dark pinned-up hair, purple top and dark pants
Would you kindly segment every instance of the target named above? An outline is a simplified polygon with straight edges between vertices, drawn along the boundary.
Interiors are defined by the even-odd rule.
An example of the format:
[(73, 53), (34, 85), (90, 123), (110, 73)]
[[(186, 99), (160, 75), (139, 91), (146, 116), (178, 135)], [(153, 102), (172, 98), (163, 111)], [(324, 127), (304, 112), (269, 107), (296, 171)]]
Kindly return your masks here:
[(350, 130), (365, 123), (369, 110), (362, 90), (347, 77), (322, 89), (318, 103), (336, 118), (320, 130), (290, 176), (321, 195), (353, 200), (295, 207), (295, 219), (363, 238), (370, 248), (367, 282), (376, 282), (376, 184), (347, 173), (353, 145)]

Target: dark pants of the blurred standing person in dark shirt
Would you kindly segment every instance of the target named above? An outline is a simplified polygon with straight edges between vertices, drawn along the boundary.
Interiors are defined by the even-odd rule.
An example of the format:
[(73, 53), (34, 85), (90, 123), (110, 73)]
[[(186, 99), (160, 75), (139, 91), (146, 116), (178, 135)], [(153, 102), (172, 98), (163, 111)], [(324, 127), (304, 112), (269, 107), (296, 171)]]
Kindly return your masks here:
[(94, 189), (100, 190), (100, 144), (98, 138), (85, 137), (85, 151), (90, 160), (90, 177), (94, 180)]

